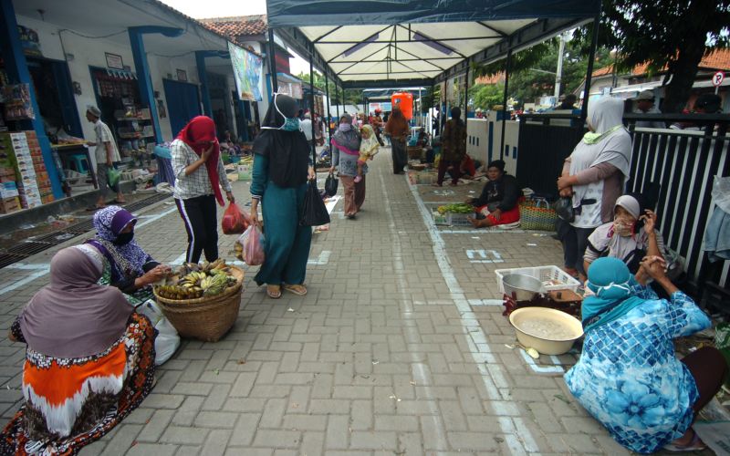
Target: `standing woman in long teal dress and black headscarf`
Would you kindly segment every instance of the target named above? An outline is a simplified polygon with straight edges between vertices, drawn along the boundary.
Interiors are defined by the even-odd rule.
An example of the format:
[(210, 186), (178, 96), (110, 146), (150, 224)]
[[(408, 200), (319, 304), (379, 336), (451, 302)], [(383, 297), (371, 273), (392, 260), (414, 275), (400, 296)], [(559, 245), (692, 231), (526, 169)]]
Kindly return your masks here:
[(258, 221), (262, 205), (266, 260), (255, 282), (266, 284), (266, 294), (281, 297), (281, 289), (306, 295), (312, 228), (299, 224), (307, 181), (316, 179), (309, 145), (299, 130), (297, 101), (274, 94), (261, 133), (254, 141), (254, 174), (251, 182), (251, 218)]

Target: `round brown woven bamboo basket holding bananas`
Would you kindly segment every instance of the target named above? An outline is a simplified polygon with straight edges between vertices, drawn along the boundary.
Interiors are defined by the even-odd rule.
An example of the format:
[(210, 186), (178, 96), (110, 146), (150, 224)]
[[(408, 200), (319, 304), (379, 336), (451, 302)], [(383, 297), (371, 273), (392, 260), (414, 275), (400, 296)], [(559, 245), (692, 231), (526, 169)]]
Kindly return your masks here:
[(230, 267), (236, 283), (220, 295), (175, 300), (154, 294), (162, 313), (181, 337), (217, 342), (234, 326), (244, 291), (244, 271)]

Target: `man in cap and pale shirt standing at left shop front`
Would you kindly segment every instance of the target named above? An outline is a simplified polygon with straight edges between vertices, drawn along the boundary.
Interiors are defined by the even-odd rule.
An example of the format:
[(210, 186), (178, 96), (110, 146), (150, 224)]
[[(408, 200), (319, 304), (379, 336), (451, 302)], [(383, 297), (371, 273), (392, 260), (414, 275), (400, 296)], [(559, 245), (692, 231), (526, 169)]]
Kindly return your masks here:
[[(117, 192), (117, 199), (114, 202), (124, 204), (124, 195), (120, 190), (120, 183), (114, 185), (109, 183), (109, 171), (114, 169), (114, 162), (121, 161), (120, 150), (117, 149), (117, 141), (111, 134), (111, 130), (106, 123), (101, 121), (101, 111), (96, 106), (89, 106), (86, 109), (86, 119), (94, 124), (94, 133), (96, 141), (88, 141), (89, 146), (96, 147), (97, 159), (97, 182), (99, 183), (99, 199), (95, 209), (100, 209), (107, 204), (108, 188)], [(90, 209), (90, 208), (89, 208)]]

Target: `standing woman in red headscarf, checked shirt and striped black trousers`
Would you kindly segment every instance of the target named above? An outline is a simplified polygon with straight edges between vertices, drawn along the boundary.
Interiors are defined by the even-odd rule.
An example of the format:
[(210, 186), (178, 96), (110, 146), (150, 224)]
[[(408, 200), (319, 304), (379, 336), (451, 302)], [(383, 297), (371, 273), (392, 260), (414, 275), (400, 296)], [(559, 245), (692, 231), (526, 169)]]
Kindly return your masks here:
[(229, 202), (234, 202), (234, 194), (225, 176), (213, 119), (193, 118), (172, 141), (170, 151), (176, 178), (172, 196), (188, 233), (185, 261), (198, 263), (203, 252), (206, 260), (215, 261), (218, 259), (215, 202), (224, 205), (221, 186)]

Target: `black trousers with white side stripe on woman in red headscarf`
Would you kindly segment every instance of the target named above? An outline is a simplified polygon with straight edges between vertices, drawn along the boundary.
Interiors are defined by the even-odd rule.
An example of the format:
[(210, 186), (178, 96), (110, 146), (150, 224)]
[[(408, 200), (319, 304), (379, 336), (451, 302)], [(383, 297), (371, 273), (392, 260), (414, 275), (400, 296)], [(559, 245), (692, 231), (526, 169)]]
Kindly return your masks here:
[(185, 258), (188, 263), (198, 263), (205, 252), (205, 259), (218, 259), (218, 221), (214, 195), (196, 196), (177, 200), (177, 210), (188, 233), (188, 249)]

